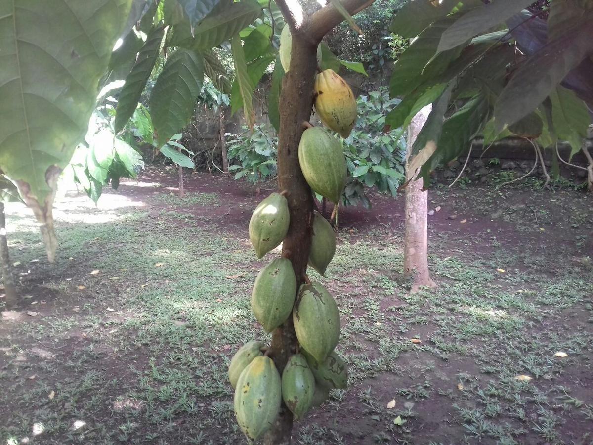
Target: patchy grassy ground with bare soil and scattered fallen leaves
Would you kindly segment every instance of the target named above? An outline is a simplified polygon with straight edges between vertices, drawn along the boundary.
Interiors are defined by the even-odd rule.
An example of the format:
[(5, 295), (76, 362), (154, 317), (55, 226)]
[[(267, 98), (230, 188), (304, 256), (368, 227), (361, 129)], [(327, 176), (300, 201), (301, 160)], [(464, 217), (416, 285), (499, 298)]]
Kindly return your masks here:
[[(25, 298), (2, 313), (0, 444), (243, 443), (226, 372), (241, 344), (269, 339), (249, 306), (273, 258), (257, 261), (247, 240), (262, 196), (195, 190), (180, 199), (124, 186), (98, 209), (66, 196), (53, 266), (11, 206)], [(350, 385), (295, 424), (295, 443), (593, 443), (590, 199), (566, 192), (563, 220), (577, 227), (557, 243), (551, 195), (505, 193), (525, 193), (550, 218), (534, 224), (508, 196), (490, 208), (494, 195), (480, 190), (431, 195), (459, 216), (431, 227), (439, 287), (412, 295), (399, 224), (362, 227), (345, 214), (326, 278), (311, 278), (339, 304)], [(227, 219), (232, 208), (243, 228)]]

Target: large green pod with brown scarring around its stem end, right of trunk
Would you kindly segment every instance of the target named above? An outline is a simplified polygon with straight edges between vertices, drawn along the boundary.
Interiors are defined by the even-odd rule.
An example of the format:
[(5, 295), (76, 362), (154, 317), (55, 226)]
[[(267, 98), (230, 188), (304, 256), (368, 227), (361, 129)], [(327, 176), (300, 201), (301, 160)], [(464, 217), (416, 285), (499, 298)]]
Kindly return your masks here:
[(301, 346), (319, 363), (324, 362), (340, 339), (340, 313), (336, 300), (318, 282), (303, 284), (292, 311)]

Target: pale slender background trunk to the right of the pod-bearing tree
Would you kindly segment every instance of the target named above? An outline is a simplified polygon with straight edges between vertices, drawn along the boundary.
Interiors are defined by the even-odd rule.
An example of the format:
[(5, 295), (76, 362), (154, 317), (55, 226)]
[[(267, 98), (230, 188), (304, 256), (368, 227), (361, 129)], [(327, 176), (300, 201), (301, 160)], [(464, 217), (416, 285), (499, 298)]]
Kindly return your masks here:
[(413, 117), (408, 128), (406, 154), (406, 233), (404, 235), (404, 276), (414, 277), (412, 292), (420, 286), (434, 287), (428, 270), (428, 190), (422, 191), (422, 178), (413, 180), (417, 171), (409, 171), (412, 160), (412, 146), (425, 124), (432, 106), (426, 106)]

